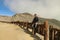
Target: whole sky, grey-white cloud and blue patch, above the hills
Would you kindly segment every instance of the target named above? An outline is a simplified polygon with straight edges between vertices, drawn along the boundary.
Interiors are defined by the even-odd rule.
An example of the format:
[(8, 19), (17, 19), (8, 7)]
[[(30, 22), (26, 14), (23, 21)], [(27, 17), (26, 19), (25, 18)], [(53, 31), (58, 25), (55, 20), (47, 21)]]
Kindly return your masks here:
[(60, 0), (0, 0), (1, 15), (24, 12), (60, 20)]

